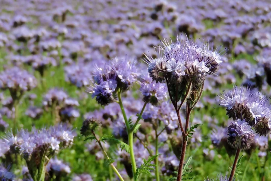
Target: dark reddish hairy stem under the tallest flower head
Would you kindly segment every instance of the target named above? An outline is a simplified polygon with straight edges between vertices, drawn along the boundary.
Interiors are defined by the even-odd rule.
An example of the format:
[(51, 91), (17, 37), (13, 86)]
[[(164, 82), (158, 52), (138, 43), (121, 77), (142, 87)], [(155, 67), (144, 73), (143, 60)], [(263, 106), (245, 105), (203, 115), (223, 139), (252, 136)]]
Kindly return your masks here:
[[(178, 119), (180, 117), (179, 111), (177, 112), (178, 114)], [(182, 168), (184, 164), (184, 159), (185, 159), (185, 151), (186, 151), (186, 146), (187, 146), (187, 129), (188, 129), (188, 124), (190, 120), (190, 114), (191, 114), (191, 109), (186, 106), (186, 119), (185, 119), (185, 130), (182, 132), (182, 151), (181, 151), (181, 157), (180, 157), (180, 163), (179, 163), (179, 169), (178, 169), (178, 175), (177, 175), (177, 181), (182, 180)]]

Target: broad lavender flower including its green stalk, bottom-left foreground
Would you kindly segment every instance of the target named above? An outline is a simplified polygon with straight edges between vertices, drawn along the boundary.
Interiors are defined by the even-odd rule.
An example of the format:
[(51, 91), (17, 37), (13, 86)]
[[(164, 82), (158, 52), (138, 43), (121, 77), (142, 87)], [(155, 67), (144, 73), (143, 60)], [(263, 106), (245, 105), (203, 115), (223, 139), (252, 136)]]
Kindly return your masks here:
[(21, 155), (26, 161), (33, 181), (44, 181), (45, 168), (51, 157), (72, 145), (75, 136), (69, 126), (61, 124), (31, 132), (22, 129), (17, 135), (10, 132), (4, 141), (12, 153)]

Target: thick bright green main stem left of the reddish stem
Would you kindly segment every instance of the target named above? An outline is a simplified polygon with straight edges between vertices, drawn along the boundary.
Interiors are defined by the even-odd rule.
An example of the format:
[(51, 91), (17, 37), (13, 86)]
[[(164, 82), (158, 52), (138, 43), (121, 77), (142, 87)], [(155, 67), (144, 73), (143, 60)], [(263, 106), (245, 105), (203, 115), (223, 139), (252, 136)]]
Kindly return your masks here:
[(123, 114), (123, 118), (126, 124), (127, 132), (128, 132), (128, 144), (129, 144), (129, 149), (130, 149), (130, 157), (131, 157), (131, 163), (132, 163), (132, 171), (133, 171), (133, 177), (134, 181), (137, 181), (136, 178), (136, 159), (135, 159), (135, 154), (134, 154), (134, 146), (133, 146), (133, 132), (131, 131), (129, 121), (127, 119), (122, 100), (121, 100), (121, 91), (120, 89), (118, 90), (118, 98), (119, 98), (119, 105), (121, 112)]

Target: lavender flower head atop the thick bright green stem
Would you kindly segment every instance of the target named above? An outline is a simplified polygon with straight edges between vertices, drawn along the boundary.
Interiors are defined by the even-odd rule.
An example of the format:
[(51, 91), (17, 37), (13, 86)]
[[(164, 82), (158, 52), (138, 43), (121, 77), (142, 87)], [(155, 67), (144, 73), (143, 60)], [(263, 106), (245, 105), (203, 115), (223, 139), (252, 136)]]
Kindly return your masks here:
[(107, 105), (115, 101), (117, 90), (127, 91), (136, 81), (138, 70), (135, 59), (127, 57), (115, 58), (104, 65), (97, 67), (94, 72), (94, 86), (90, 88), (92, 98), (101, 105)]

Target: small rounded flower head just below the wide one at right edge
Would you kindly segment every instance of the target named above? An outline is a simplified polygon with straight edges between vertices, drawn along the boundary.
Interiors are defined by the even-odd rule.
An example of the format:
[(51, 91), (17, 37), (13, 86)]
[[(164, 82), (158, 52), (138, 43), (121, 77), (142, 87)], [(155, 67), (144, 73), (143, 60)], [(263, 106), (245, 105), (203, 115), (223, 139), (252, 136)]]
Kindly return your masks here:
[(233, 147), (240, 147), (241, 150), (250, 148), (254, 142), (254, 134), (251, 126), (245, 120), (238, 119), (228, 127), (228, 142)]

